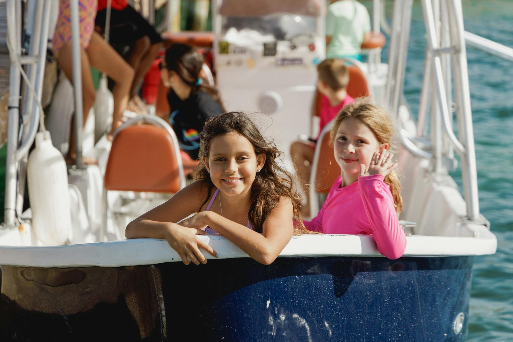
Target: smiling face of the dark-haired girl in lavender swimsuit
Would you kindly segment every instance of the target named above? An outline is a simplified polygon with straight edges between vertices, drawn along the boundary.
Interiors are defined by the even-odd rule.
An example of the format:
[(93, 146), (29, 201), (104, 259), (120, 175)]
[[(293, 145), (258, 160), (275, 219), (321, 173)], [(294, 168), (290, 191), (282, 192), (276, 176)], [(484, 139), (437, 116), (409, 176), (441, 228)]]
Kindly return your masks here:
[(265, 163), (265, 154), (256, 155), (249, 140), (238, 133), (221, 134), (212, 139), (209, 157), (203, 162), (212, 183), (228, 196), (246, 195)]

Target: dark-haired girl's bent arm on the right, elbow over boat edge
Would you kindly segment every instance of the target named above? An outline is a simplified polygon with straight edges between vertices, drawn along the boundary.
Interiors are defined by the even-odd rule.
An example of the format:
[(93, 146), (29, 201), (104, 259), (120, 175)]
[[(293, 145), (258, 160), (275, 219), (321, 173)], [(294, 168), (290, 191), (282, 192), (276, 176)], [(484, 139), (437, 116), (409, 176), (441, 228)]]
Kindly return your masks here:
[(185, 220), (182, 225), (194, 227), (208, 225), (259, 263), (269, 265), (292, 238), (292, 203), (288, 198), (280, 199), (279, 205), (267, 215), (262, 234), (212, 211), (202, 211)]

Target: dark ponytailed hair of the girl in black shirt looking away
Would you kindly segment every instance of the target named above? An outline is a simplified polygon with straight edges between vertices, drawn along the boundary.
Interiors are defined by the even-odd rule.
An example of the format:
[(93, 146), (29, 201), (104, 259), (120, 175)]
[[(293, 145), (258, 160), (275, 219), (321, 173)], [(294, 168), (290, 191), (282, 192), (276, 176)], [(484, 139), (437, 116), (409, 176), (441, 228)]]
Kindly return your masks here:
[(218, 90), (210, 86), (206, 79), (202, 78), (201, 84), (196, 84), (203, 68), (203, 55), (198, 49), (188, 44), (174, 43), (167, 48), (164, 58), (166, 69), (176, 72), (182, 81), (192, 87), (191, 92), (202, 90), (210, 94), (225, 110)]

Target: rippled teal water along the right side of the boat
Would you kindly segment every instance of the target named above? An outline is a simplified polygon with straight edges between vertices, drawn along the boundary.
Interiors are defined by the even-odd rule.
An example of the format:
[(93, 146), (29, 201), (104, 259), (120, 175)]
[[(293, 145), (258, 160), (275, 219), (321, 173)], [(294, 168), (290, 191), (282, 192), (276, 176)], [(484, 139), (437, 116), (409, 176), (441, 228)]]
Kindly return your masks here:
[[(513, 48), (513, 2), (463, 0), (462, 5), (466, 31)], [(392, 3), (387, 7), (391, 18)], [(413, 113), (425, 47), (422, 6), (415, 2), (405, 81)], [(496, 254), (475, 258), (467, 340), (513, 341), (513, 63), (473, 49), (467, 49), (467, 60), (480, 209), (498, 240)], [(451, 175), (462, 192), (460, 172)]]

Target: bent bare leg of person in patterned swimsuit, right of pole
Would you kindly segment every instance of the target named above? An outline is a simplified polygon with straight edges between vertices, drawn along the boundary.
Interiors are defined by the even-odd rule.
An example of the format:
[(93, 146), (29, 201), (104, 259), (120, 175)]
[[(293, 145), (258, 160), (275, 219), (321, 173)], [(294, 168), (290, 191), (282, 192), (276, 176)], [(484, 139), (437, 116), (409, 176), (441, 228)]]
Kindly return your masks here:
[(111, 140), (128, 103), (130, 84), (133, 79), (133, 69), (110, 45), (105, 43), (102, 37), (96, 32), (93, 32), (91, 42), (86, 52), (91, 65), (99, 71), (105, 72), (115, 82), (114, 88), (112, 89), (112, 96), (114, 97), (112, 128), (108, 136)]

